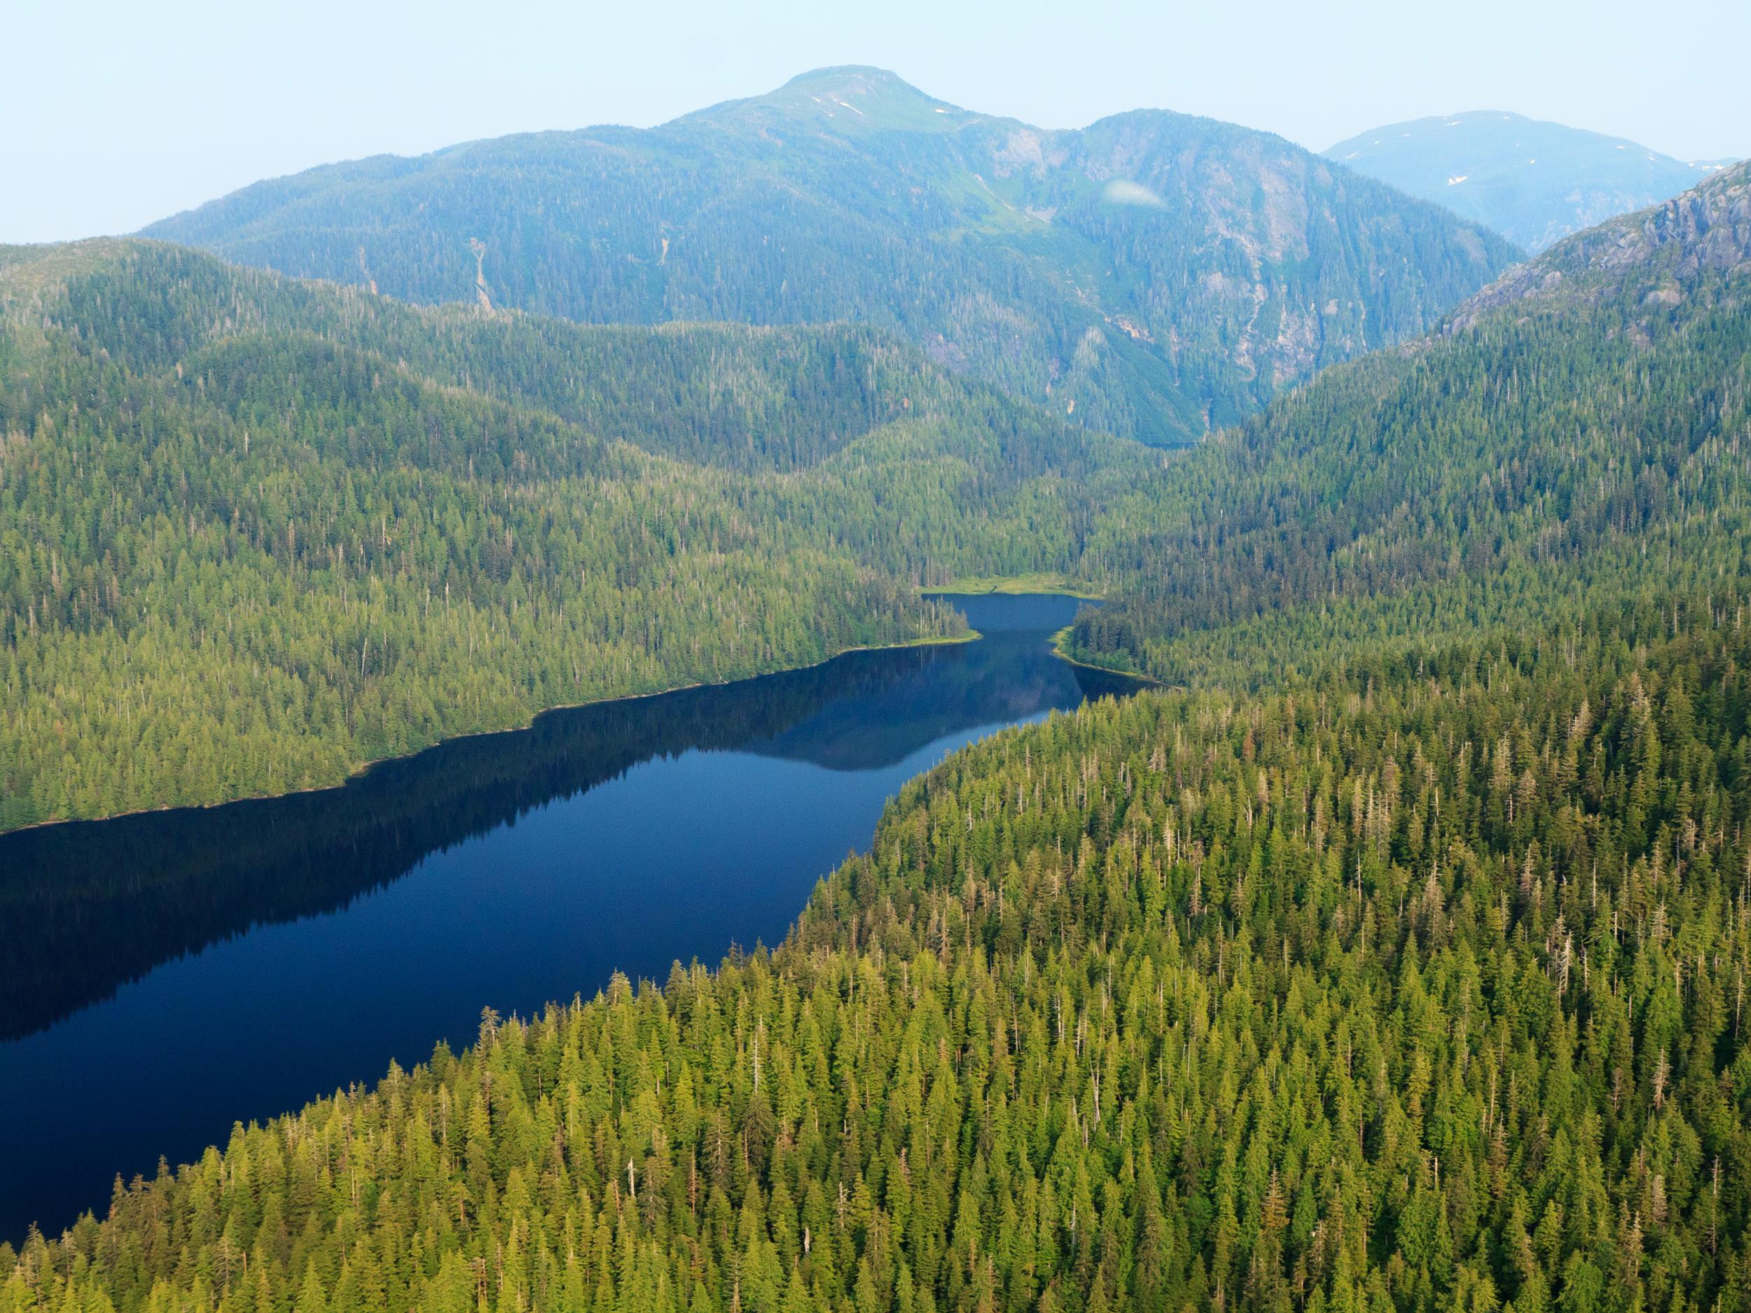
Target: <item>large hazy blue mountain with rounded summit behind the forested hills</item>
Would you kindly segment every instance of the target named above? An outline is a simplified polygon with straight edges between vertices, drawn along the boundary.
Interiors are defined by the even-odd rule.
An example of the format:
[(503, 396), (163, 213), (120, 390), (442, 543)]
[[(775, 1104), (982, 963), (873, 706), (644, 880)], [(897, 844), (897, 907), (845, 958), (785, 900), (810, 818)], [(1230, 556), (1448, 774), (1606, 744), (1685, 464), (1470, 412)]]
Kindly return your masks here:
[(651, 130), (329, 165), (145, 231), (410, 301), (870, 324), (1159, 445), (1422, 333), (1515, 257), (1268, 133), (1157, 110), (1049, 131), (876, 68)]

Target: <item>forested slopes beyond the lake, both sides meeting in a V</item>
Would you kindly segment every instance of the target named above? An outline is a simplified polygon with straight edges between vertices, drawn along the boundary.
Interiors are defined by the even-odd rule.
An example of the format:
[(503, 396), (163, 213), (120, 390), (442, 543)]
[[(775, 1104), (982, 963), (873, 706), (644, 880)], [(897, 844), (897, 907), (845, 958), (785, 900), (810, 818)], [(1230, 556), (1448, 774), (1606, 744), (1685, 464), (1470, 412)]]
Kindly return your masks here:
[(12, 254), (0, 825), (942, 634), (912, 588), (960, 574), (1094, 579), (1079, 656), (1227, 686), (1737, 579), (1747, 194), (1571, 238), (1164, 467), (863, 327)]

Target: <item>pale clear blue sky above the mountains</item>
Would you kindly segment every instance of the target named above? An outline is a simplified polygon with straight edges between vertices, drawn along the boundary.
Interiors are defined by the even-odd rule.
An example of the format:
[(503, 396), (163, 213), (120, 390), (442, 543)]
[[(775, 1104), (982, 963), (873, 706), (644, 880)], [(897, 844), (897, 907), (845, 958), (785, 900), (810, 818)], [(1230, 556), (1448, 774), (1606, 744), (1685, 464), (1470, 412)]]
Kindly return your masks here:
[[(133, 231), (334, 159), (650, 126), (837, 63), (1047, 128), (1152, 107), (1315, 151), (1501, 109), (1751, 154), (1751, 4), (9, 0), (0, 242)], [(1735, 68), (1737, 63), (1737, 68)]]

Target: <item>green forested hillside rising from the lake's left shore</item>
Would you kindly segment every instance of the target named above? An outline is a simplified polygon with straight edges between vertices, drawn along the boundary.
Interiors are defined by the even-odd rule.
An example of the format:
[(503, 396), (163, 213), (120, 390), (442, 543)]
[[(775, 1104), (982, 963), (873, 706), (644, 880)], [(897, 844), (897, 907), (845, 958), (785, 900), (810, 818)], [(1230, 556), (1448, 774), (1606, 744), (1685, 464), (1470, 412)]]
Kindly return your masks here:
[(1142, 460), (863, 329), (415, 310), (156, 243), (5, 252), (0, 299), (0, 828), (954, 634), (919, 583), (1065, 569)]

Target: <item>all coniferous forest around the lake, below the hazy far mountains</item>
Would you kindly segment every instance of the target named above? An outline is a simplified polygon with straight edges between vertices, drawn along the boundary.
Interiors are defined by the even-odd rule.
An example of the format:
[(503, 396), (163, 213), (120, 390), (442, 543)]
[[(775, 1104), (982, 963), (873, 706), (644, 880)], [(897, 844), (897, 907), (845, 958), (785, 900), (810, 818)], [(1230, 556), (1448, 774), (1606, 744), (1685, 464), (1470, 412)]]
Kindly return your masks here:
[(0, 1313), (1751, 1313), (1751, 165), (1173, 453), (916, 324), (487, 299), (0, 252), (0, 828), (960, 639), (967, 578), (1159, 686), (909, 781), (777, 947), (117, 1178)]

